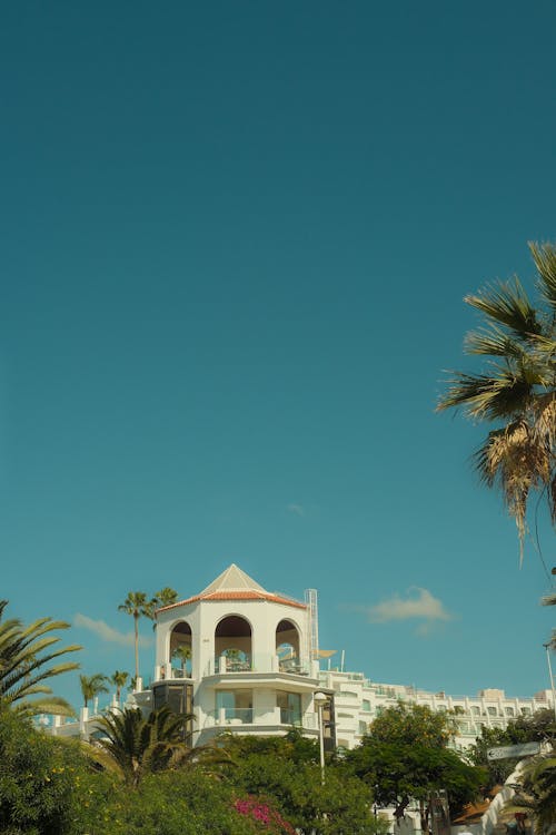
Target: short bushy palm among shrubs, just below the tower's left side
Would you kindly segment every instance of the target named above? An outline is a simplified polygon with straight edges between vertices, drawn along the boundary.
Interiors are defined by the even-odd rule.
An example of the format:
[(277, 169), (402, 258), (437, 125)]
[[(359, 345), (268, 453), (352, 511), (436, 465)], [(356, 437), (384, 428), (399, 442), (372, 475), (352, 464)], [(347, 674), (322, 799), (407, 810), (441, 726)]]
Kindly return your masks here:
[(148, 719), (139, 708), (126, 708), (97, 720), (105, 735), (98, 745), (117, 764), (126, 783), (137, 787), (145, 774), (171, 768), (187, 758), (190, 745), (185, 727), (191, 719), (166, 706), (153, 710)]

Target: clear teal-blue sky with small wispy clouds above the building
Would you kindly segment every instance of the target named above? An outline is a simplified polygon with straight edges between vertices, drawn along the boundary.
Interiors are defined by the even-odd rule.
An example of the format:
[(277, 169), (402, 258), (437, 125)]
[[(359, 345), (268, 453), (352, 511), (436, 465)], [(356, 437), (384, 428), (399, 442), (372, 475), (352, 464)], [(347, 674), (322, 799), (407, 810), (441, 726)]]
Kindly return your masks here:
[(543, 0), (2, 9), (12, 616), (132, 670), (127, 592), (237, 562), (317, 588), (321, 646), (375, 680), (548, 686), (539, 557), (470, 470), (485, 428), (434, 407), (471, 367), (464, 295), (532, 289), (527, 240), (556, 239), (555, 24)]

